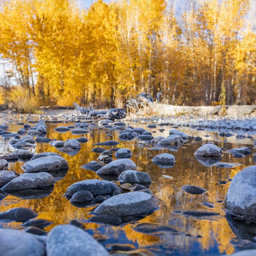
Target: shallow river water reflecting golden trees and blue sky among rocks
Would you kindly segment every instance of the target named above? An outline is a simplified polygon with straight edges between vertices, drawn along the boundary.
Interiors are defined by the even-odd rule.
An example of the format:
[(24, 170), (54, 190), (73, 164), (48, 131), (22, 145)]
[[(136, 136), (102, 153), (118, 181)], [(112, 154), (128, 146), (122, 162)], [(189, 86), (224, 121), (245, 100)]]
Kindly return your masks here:
[[(63, 124), (47, 124), (46, 137), (65, 141), (70, 138), (77, 138), (83, 135), (73, 135), (70, 131), (66, 133), (59, 133), (54, 131), (54, 128)], [(67, 126), (68, 124), (65, 124)], [(155, 136), (168, 136), (170, 127), (157, 126), (157, 128), (147, 128), (142, 124), (131, 124), (134, 127), (143, 127), (149, 131), (156, 131), (152, 135)], [(8, 131), (17, 131), (22, 128), (21, 125), (9, 124)], [(105, 240), (100, 241), (101, 244), (106, 246), (109, 243), (129, 243), (133, 244), (136, 248), (144, 248), (153, 252), (155, 255), (217, 255), (217, 254), (231, 254), (236, 251), (230, 239), (240, 236), (237, 231), (230, 228), (232, 223), (227, 221), (225, 217), (226, 212), (224, 209), (225, 195), (229, 187), (227, 184), (219, 184), (217, 182), (232, 178), (237, 172), (245, 167), (253, 165), (253, 154), (246, 156), (242, 159), (236, 159), (231, 154), (225, 153), (222, 162), (235, 162), (240, 163), (240, 166), (235, 168), (219, 168), (219, 167), (206, 167), (195, 159), (194, 152), (197, 148), (201, 147), (203, 142), (212, 141), (217, 146), (223, 147), (226, 150), (230, 148), (237, 148), (242, 146), (252, 146), (253, 139), (246, 138), (243, 140), (236, 139), (236, 136), (223, 138), (218, 135), (219, 131), (198, 131), (189, 128), (180, 128), (190, 136), (201, 136), (203, 141), (189, 140), (179, 148), (178, 151), (170, 151), (169, 149), (163, 150), (150, 150), (153, 147), (147, 142), (138, 141), (120, 141), (118, 139), (118, 130), (110, 131), (102, 129), (97, 125), (90, 125), (90, 134), (84, 135), (89, 139), (87, 143), (81, 143), (81, 150), (77, 155), (70, 156), (66, 153), (58, 151), (48, 144), (37, 144), (38, 147), (34, 149), (36, 154), (46, 151), (56, 152), (62, 155), (69, 163), (69, 170), (67, 175), (61, 180), (57, 181), (54, 186), (53, 192), (42, 199), (20, 199), (12, 195), (8, 195), (5, 199), (0, 201), (1, 211), (11, 209), (14, 207), (27, 207), (36, 211), (38, 218), (44, 218), (48, 221), (54, 222), (46, 228), (47, 231), (52, 229), (57, 224), (67, 224), (72, 219), (78, 219), (84, 222), (91, 235), (106, 236)], [(162, 133), (159, 129), (165, 129)], [(111, 136), (107, 136), (107, 134)], [(204, 135), (210, 135), (204, 137)], [(227, 141), (225, 141), (225, 139)], [(130, 148), (133, 152), (131, 158), (138, 167), (138, 170), (147, 172), (151, 179), (152, 184), (150, 189), (154, 191), (156, 197), (161, 200), (160, 207), (155, 210), (151, 215), (141, 219), (138, 222), (130, 222), (121, 226), (111, 226), (105, 224), (98, 224), (88, 222), (91, 215), (92, 207), (77, 208), (73, 206), (63, 196), (67, 187), (74, 182), (86, 179), (101, 179), (94, 171), (89, 171), (81, 168), (81, 165), (97, 160), (99, 154), (91, 151), (96, 147), (93, 144), (107, 140), (116, 140), (120, 144), (115, 146), (119, 148)], [(105, 147), (110, 149), (114, 147)], [(13, 150), (8, 143), (0, 138), (1, 153), (7, 154)], [(153, 164), (152, 158), (161, 153), (170, 153), (175, 155), (176, 164), (172, 168), (160, 168)], [(115, 159), (115, 156), (113, 156)], [(15, 170), (22, 173), (21, 166), (23, 162), (9, 163), (9, 170)], [(174, 178), (170, 179), (168, 176)], [(208, 190), (207, 193), (202, 195), (191, 195), (184, 192), (181, 187), (184, 184), (191, 184), (203, 187)], [(208, 208), (202, 205), (202, 202), (213, 202), (214, 208)], [(204, 218), (188, 217), (182, 214), (183, 210), (209, 210), (220, 213), (219, 216), (210, 216)], [(184, 234), (175, 235), (170, 232), (158, 232), (157, 234), (142, 234), (135, 231), (134, 227), (137, 223), (159, 223), (171, 225)], [(10, 225), (14, 229), (20, 228), (20, 222), (1, 223), (5, 228)], [(58, 230), (58, 232), (65, 230)], [(240, 237), (241, 238), (241, 237)], [(149, 253), (146, 253), (149, 255)]]

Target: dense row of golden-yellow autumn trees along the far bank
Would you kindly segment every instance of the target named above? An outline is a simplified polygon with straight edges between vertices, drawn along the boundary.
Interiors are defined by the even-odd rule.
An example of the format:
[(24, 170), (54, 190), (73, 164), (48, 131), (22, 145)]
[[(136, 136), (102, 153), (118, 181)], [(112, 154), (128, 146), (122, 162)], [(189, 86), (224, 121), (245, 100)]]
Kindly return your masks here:
[(37, 107), (122, 107), (139, 92), (161, 92), (166, 104), (215, 105), (223, 94), (227, 104), (255, 103), (253, 10), (236, 0), (230, 10), (135, 2), (3, 8), (0, 101), (15, 104), (22, 91)]

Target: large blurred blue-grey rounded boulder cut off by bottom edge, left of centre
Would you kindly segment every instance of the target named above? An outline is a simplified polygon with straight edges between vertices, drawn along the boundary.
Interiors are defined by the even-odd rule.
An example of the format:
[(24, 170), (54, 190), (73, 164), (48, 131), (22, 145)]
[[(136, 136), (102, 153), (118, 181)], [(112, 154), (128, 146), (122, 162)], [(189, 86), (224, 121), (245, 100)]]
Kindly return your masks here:
[[(57, 232), (56, 230), (63, 232)], [(107, 256), (108, 251), (86, 231), (74, 225), (56, 226), (48, 234), (46, 243), (48, 256)]]

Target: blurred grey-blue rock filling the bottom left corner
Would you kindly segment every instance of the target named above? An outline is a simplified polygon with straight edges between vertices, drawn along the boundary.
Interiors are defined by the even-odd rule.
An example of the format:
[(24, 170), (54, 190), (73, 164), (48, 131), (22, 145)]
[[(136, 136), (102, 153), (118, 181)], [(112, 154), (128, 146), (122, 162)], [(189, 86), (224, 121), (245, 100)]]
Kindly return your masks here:
[(2, 256), (45, 256), (45, 246), (34, 235), (0, 229), (0, 255)]

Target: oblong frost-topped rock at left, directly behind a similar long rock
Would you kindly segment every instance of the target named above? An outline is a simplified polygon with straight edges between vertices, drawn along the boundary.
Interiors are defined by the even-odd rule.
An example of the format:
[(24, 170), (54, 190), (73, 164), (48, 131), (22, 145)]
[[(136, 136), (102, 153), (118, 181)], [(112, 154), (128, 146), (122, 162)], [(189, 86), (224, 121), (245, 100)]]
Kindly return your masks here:
[(61, 156), (49, 155), (28, 161), (22, 168), (28, 173), (58, 171), (68, 169), (68, 163)]

